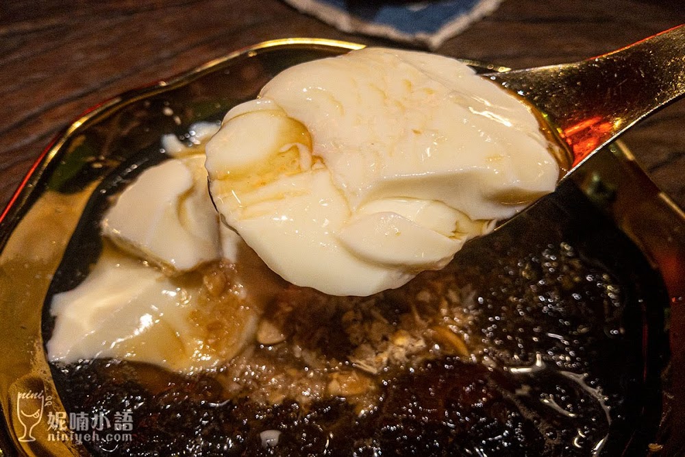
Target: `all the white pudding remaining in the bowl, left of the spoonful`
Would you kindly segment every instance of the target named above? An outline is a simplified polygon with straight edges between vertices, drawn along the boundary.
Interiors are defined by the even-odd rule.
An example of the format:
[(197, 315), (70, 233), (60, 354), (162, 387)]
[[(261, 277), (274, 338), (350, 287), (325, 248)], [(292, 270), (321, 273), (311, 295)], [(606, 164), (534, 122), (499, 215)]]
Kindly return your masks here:
[[(211, 127), (195, 128), (206, 136)], [(275, 290), (271, 272), (219, 223), (203, 150), (172, 137), (162, 143), (175, 158), (143, 171), (101, 223), (105, 238), (123, 252), (105, 243), (88, 277), (53, 297), (50, 360), (116, 358), (192, 373), (223, 366), (255, 338), (262, 304)], [(229, 295), (212, 297), (226, 319), (199, 312), (209, 298), (201, 293), (203, 275), (195, 273), (220, 259), (241, 265)], [(210, 325), (222, 332), (211, 345)]]

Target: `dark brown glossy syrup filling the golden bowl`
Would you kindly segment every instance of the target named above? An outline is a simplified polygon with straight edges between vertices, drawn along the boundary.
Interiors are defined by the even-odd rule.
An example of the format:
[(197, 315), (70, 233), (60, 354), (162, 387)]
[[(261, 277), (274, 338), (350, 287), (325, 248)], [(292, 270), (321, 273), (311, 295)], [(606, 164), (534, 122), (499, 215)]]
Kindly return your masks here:
[[(97, 221), (105, 195), (114, 187), (104, 183), (108, 192), (96, 193), (88, 206), (53, 293), (84, 277), (100, 246)], [(380, 307), (390, 314), (430, 308), (416, 302), (425, 287), (467, 291), (469, 298), (460, 301), (469, 316), (464, 331), (481, 348), (479, 355), (436, 351), (416, 367), (388, 367), (375, 375), (375, 408), (362, 415), (339, 397), (264, 406), (248, 390), (227, 400), (210, 375), (185, 377), (134, 362), (53, 366), (53, 376), (69, 412), (132, 410), (132, 440), (85, 443), (96, 455), (644, 452), (660, 412), (661, 367), (653, 354), (664, 343), (667, 296), (640, 251), (573, 184), (563, 184), (503, 230), (469, 243), (445, 270), (385, 293)], [(311, 291), (286, 293), (305, 306), (316, 301)], [(300, 324), (329, 328), (317, 344), (329, 354), (345, 354), (349, 341), (336, 332), (340, 317), (309, 309), (300, 313), (306, 314)], [(46, 341), (52, 325), (46, 314)], [(257, 347), (253, 356), (269, 362), (288, 353)], [(280, 432), (273, 447), (260, 436), (267, 430)]]

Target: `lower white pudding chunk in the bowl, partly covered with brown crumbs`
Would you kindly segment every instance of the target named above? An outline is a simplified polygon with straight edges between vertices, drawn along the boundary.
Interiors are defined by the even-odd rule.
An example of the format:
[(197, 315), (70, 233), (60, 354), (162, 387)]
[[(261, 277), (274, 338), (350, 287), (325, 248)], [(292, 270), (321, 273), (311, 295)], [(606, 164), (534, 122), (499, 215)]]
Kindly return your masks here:
[[(49, 360), (135, 360), (181, 373), (224, 367), (254, 341), (263, 304), (275, 291), (249, 253), (238, 261), (249, 264), (236, 277), (240, 283), (227, 297), (207, 297), (201, 275), (178, 280), (105, 247), (84, 282), (53, 297)], [(221, 301), (216, 315), (201, 312), (210, 299)], [(209, 343), (212, 325), (221, 339)]]

